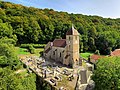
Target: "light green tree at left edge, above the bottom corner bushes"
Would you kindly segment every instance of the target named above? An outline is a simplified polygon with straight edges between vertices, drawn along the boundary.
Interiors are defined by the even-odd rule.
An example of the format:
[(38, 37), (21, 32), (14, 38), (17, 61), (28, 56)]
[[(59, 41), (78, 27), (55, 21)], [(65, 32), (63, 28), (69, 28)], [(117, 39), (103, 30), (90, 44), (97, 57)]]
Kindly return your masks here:
[[(0, 65), (1, 66), (16, 66), (20, 62), (17, 58), (15, 48), (10, 43), (3, 43), (4, 39), (0, 39)], [(9, 41), (6, 39), (6, 41)]]

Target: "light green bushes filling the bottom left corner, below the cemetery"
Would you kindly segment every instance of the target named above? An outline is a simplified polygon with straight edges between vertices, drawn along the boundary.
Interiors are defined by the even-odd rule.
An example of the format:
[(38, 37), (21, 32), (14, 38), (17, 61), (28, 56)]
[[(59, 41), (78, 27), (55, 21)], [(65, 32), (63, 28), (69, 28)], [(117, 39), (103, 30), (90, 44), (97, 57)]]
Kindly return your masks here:
[(23, 76), (8, 67), (0, 68), (0, 90), (36, 90), (35, 78), (35, 74)]

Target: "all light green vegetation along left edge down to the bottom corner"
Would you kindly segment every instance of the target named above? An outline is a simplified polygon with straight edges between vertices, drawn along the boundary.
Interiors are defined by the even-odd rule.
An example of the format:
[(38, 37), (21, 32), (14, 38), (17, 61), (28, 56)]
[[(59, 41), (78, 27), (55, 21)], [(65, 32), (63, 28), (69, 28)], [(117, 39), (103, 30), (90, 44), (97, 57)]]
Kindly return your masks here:
[(0, 90), (36, 90), (36, 75), (16, 73), (24, 69), (12, 39), (0, 39)]

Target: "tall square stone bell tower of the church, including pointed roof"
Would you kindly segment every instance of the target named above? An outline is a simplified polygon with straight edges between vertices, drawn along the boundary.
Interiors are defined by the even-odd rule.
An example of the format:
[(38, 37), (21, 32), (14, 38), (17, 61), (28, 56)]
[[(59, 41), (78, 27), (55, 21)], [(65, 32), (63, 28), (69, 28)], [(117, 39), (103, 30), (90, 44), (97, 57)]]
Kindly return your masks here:
[(76, 65), (79, 65), (79, 33), (73, 25), (66, 33), (66, 44), (69, 65), (74, 68)]

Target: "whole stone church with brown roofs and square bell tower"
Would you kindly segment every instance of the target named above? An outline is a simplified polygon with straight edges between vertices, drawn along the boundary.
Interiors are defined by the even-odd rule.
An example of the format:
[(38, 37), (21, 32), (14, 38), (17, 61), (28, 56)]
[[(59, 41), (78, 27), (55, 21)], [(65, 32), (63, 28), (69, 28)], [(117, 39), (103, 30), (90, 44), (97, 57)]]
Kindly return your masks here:
[(47, 60), (54, 60), (74, 68), (79, 65), (79, 33), (73, 27), (66, 33), (66, 39), (48, 42), (43, 55)]

